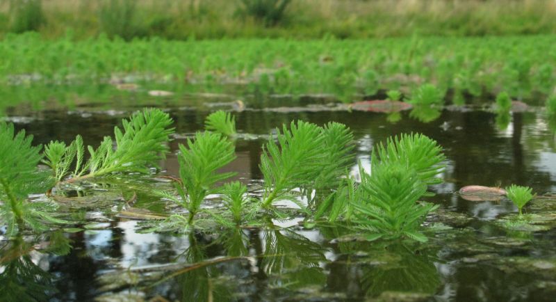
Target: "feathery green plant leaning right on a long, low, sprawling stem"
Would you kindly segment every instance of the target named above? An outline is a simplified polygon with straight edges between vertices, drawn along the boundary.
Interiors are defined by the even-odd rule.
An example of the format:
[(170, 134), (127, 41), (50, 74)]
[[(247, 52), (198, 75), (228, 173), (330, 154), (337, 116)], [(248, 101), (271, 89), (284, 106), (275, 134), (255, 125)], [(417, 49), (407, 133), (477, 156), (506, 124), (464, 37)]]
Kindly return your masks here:
[(110, 136), (105, 136), (95, 150), (88, 146), (90, 159), (84, 161), (83, 139), (77, 136), (69, 145), (52, 142), (45, 148), (44, 163), (54, 170), (56, 180), (67, 176), (72, 163), (75, 169), (69, 182), (99, 177), (110, 173), (148, 173), (149, 167), (165, 158), (167, 142), (174, 128), (172, 119), (160, 109), (144, 109), (122, 120), (123, 131), (114, 127), (115, 145)]

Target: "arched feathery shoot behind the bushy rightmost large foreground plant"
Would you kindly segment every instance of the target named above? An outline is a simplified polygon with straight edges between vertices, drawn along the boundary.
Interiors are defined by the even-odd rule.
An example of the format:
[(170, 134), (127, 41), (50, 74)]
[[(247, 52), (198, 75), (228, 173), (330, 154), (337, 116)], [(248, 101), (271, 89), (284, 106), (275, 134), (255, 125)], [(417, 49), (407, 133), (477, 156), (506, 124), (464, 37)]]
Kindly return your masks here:
[(441, 184), (443, 180), (437, 176), (444, 169), (441, 164), (444, 160), (442, 148), (436, 141), (423, 134), (402, 134), (389, 138), (386, 146), (380, 143), (373, 149), (371, 170), (380, 165), (400, 163), (407, 170), (414, 170), (423, 184)]

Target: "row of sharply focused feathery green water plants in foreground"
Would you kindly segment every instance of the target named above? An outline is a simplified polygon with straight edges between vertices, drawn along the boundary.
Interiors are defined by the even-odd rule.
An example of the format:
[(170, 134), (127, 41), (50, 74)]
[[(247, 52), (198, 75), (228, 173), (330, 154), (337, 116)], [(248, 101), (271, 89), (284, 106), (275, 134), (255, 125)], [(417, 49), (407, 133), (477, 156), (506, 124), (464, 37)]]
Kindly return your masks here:
[[(0, 214), (6, 235), (24, 230), (37, 232), (71, 225), (56, 212), (56, 194), (63, 188), (109, 175), (155, 173), (157, 161), (167, 153), (173, 132), (172, 119), (159, 109), (144, 109), (115, 127), (97, 148), (81, 136), (66, 144), (51, 141), (41, 152), (32, 137), (14, 126), (0, 123)], [(217, 111), (206, 118), (206, 130), (179, 145), (179, 177), (173, 189), (156, 194), (175, 202), (184, 211), (156, 221), (152, 230), (189, 232), (261, 225), (268, 218), (297, 214), (306, 225), (333, 223), (368, 240), (412, 239), (427, 241), (420, 232), (425, 216), (437, 205), (422, 201), (429, 186), (439, 184), (445, 159), (437, 143), (423, 134), (402, 134), (373, 148), (372, 173), (359, 164), (360, 180), (347, 171), (354, 164), (353, 135), (338, 122), (322, 127), (298, 120), (276, 129), (263, 146), (259, 168), (261, 193), (250, 192), (241, 182), (227, 182), (233, 172), (220, 170), (235, 159), (238, 138), (235, 119)], [(42, 163), (44, 165), (39, 166)], [(510, 186), (508, 197), (521, 209), (532, 198), (531, 190)], [(36, 198), (36, 194), (46, 195)], [(209, 194), (218, 194), (220, 207), (203, 207)], [(29, 196), (35, 196), (29, 200)]]

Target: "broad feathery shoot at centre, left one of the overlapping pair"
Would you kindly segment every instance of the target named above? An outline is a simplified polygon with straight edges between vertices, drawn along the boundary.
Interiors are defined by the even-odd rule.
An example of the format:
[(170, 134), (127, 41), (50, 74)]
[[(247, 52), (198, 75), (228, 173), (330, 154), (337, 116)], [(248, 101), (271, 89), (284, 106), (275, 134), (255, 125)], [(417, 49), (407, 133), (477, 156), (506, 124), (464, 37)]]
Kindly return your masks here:
[(263, 206), (269, 207), (276, 198), (288, 198), (289, 192), (311, 183), (320, 174), (325, 154), (321, 150), (322, 129), (309, 122), (291, 122), (290, 129), (282, 129), (276, 143), (271, 137), (261, 154), (261, 172), (265, 192)]

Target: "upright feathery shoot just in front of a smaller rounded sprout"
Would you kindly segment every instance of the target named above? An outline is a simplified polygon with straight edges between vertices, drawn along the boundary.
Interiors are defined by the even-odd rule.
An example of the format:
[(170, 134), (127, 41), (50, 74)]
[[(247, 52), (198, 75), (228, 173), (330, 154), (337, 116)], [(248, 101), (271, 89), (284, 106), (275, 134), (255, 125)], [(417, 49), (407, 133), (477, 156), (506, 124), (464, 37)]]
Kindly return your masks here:
[(236, 158), (234, 144), (213, 132), (197, 132), (195, 141), (188, 139), (188, 147), (179, 145), (179, 176), (177, 185), (181, 196), (179, 204), (189, 211), (188, 223), (199, 211), (204, 198), (217, 182), (235, 173), (218, 173), (218, 170)]

